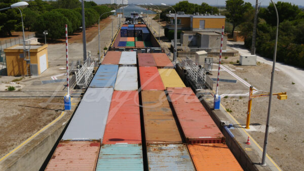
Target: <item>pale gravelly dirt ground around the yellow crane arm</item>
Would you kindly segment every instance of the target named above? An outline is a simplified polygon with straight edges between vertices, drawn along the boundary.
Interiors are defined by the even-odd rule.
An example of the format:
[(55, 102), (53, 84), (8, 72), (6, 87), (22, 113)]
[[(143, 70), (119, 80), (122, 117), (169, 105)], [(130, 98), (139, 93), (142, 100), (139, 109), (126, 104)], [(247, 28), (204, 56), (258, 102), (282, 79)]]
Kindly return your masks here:
[[(236, 70), (235, 74), (247, 80), (256, 89), (269, 91), (272, 70), (270, 65), (263, 63), (258, 63), (257, 66), (226, 65)], [(296, 80), (292, 80), (281, 71), (275, 71), (274, 82), (273, 93), (287, 92), (288, 99), (279, 100), (273, 96), (267, 153), (284, 170), (303, 170), (304, 133), (301, 125), (304, 120), (304, 98), (301, 94), (304, 91), (295, 86)], [(227, 86), (233, 88), (233, 84)], [(222, 98), (221, 101), (226, 109), (232, 110), (232, 115), (241, 124), (246, 124), (248, 98), (228, 97)], [(256, 131), (249, 134), (261, 147), (264, 141), (268, 101), (268, 97), (254, 98), (252, 101), (250, 124)]]

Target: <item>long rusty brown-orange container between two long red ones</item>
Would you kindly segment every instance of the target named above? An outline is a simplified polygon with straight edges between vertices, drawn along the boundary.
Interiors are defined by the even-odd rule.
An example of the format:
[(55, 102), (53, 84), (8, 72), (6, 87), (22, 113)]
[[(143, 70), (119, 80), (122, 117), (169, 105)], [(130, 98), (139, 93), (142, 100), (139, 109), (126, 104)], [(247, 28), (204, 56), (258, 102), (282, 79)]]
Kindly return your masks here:
[(143, 120), (147, 144), (182, 143), (164, 91), (142, 91)]

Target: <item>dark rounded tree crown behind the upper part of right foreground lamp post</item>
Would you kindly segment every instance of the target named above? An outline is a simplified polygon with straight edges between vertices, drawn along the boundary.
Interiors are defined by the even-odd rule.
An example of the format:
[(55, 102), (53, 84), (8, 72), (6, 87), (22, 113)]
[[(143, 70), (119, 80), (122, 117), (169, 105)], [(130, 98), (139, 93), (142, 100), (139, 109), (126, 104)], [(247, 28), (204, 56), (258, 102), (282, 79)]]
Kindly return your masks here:
[[(298, 6), (291, 5), (291, 3), (278, 2), (276, 4), (278, 14), (279, 14), (279, 22), (283, 22), (284, 20), (293, 20), (297, 17), (301, 11)], [(271, 3), (268, 8), (263, 8), (259, 12), (259, 17), (266, 20), (267, 23), (276, 26), (277, 25), (277, 15), (274, 8), (274, 5)]]

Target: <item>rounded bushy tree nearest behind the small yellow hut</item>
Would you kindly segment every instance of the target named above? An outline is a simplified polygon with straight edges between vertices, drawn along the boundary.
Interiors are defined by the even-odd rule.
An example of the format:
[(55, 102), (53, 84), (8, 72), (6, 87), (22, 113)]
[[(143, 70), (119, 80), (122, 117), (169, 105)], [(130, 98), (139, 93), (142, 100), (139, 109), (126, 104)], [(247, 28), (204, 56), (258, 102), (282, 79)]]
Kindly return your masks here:
[(50, 11), (42, 14), (33, 24), (33, 29), (41, 34), (44, 30), (48, 31), (48, 37), (51, 39), (61, 38), (65, 33), (65, 24), (67, 24), (68, 32), (72, 30), (72, 24), (64, 15), (56, 11)]

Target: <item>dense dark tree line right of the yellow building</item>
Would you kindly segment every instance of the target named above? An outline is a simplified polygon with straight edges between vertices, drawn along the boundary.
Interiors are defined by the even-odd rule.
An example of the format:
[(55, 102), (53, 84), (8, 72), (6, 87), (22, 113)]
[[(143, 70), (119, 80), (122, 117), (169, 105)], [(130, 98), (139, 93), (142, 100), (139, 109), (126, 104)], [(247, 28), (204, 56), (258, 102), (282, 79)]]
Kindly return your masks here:
[[(242, 21), (237, 22), (235, 26), (245, 37), (245, 47), (250, 49), (255, 10), (249, 4), (246, 5), (242, 0), (226, 1), (226, 9), (229, 12), (226, 17), (232, 23)], [(235, 10), (236, 8), (244, 9), (244, 6), (248, 7), (243, 11)], [(277, 2), (276, 7), (279, 14), (277, 61), (304, 67), (304, 10), (286, 2)], [(260, 8), (256, 28), (257, 54), (273, 58), (276, 26), (277, 17), (273, 4), (271, 3), (267, 8)]]

